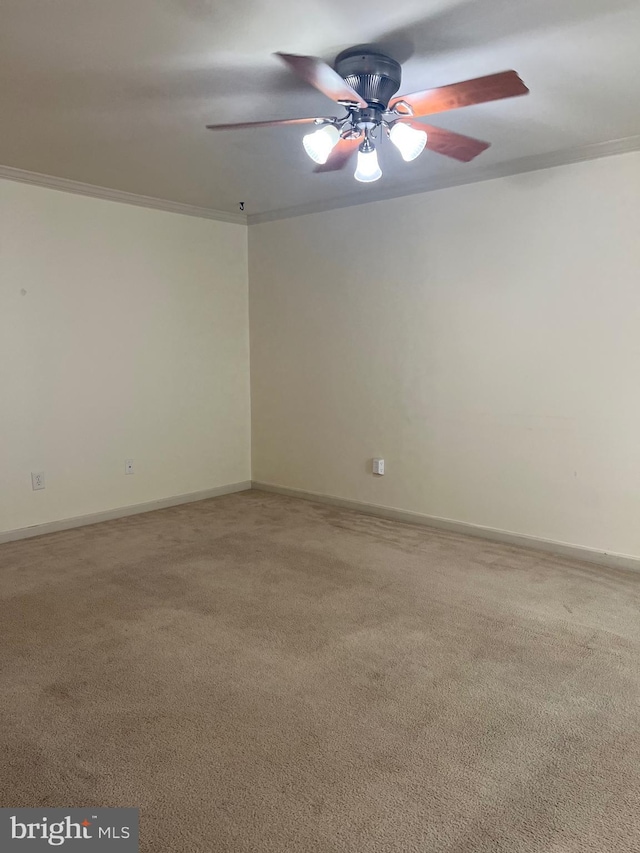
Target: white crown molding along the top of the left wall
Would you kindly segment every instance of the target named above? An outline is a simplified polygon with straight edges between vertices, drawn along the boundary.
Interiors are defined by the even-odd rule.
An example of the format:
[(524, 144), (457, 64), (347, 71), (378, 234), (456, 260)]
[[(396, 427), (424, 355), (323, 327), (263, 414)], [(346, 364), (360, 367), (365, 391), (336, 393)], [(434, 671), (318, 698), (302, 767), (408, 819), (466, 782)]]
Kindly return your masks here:
[(181, 213), (184, 216), (197, 216), (200, 219), (215, 219), (219, 222), (233, 222), (237, 225), (246, 225), (247, 217), (241, 213), (228, 213), (224, 210), (214, 210), (209, 207), (197, 207), (192, 204), (181, 204), (177, 201), (169, 201), (153, 196), (136, 195), (124, 190), (112, 190), (108, 187), (97, 187), (94, 184), (85, 184), (81, 181), (72, 181), (69, 178), (56, 178), (53, 175), (42, 175), (39, 172), (28, 172), (25, 169), (15, 169), (13, 166), (0, 166), (0, 178), (9, 181), (17, 181), (21, 184), (33, 184), (37, 187), (46, 187), (51, 190), (62, 190), (76, 195), (101, 198), (105, 201), (118, 201), (122, 204), (133, 204), (136, 207), (147, 207), (152, 210), (164, 210), (168, 213)]

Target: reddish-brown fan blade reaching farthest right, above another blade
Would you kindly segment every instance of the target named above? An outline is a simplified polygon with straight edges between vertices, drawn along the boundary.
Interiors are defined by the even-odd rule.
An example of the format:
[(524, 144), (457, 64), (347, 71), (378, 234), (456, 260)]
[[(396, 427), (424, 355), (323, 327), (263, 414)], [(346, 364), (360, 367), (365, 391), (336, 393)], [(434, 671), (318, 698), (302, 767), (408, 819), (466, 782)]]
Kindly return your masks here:
[(515, 71), (503, 71), (500, 74), (490, 74), (488, 77), (476, 77), (475, 80), (453, 83), (451, 86), (440, 86), (438, 89), (425, 89), (423, 92), (400, 95), (391, 101), (389, 109), (392, 110), (395, 105), (398, 105), (398, 113), (402, 115), (403, 104), (408, 104), (414, 116), (428, 116), (528, 93), (529, 90)]

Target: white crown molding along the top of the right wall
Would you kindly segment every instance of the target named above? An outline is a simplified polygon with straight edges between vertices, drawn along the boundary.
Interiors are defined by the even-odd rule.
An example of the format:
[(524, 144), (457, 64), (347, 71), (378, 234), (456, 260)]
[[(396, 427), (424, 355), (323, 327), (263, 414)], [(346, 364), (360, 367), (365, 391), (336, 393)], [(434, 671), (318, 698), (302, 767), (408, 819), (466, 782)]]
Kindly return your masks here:
[(389, 187), (388, 189), (380, 187), (374, 190), (372, 188), (373, 191), (366, 194), (362, 192), (351, 193), (337, 199), (309, 202), (308, 204), (299, 204), (280, 210), (270, 210), (265, 213), (253, 213), (249, 214), (247, 221), (249, 225), (258, 225), (261, 222), (273, 222), (277, 219), (290, 219), (294, 216), (305, 216), (309, 213), (322, 213), (343, 207), (355, 207), (360, 204), (370, 204), (374, 201), (388, 201), (407, 195), (433, 192), (434, 190), (475, 184), (481, 181), (492, 181), (496, 178), (507, 178), (525, 172), (537, 172), (542, 169), (568, 166), (572, 163), (582, 163), (587, 160), (597, 160), (601, 157), (612, 157), (616, 154), (627, 154), (639, 150), (640, 135), (628, 136), (624, 139), (598, 142), (593, 145), (583, 145), (579, 148), (569, 148), (563, 151), (551, 151), (546, 154), (520, 157), (516, 160), (509, 160), (506, 163), (496, 163), (476, 172), (466, 173), (459, 178), (449, 176), (446, 179), (440, 180), (431, 179), (411, 184), (400, 184), (395, 187)]

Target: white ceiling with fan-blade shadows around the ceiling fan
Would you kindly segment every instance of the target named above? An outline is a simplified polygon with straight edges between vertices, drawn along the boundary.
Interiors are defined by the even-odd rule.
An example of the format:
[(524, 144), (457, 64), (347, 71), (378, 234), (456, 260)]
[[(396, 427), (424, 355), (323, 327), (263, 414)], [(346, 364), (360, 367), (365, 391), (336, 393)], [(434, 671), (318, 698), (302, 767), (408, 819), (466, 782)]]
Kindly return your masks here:
[[(433, 118), (492, 142), (474, 163), (425, 152), (407, 164), (387, 146), (369, 186), (349, 168), (314, 174), (304, 128), (204, 129), (340, 114), (271, 54), (331, 60), (370, 41), (406, 59), (401, 92), (514, 68), (531, 94)], [(1, 4), (1, 164), (221, 211), (331, 206), (516, 172), (549, 152), (576, 159), (583, 146), (640, 140), (639, 105), (638, 0)]]

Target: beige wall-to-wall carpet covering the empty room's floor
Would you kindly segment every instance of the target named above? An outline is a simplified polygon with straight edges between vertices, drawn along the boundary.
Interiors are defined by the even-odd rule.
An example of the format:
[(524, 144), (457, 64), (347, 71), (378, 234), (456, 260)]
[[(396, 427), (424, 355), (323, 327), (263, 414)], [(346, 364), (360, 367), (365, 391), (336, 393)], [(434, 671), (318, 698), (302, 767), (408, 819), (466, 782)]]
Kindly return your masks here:
[(640, 572), (245, 492), (0, 547), (0, 805), (145, 853), (640, 849)]

